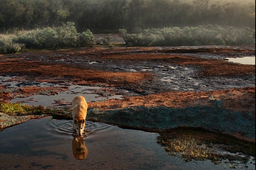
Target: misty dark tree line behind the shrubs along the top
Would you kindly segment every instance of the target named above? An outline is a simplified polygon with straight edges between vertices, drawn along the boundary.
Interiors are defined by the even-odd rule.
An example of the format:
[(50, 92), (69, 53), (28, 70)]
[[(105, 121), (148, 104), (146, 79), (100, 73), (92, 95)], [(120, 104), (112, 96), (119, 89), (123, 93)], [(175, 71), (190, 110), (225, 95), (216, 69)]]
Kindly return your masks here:
[(60, 27), (77, 32), (220, 25), (255, 29), (255, 2), (217, 0), (0, 0), (0, 32)]

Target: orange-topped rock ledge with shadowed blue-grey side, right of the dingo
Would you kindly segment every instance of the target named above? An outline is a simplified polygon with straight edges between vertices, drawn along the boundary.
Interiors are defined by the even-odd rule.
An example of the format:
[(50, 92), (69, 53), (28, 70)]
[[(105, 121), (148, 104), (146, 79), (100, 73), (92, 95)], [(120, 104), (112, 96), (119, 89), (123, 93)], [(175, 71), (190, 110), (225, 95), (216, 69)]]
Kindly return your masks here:
[(87, 118), (133, 128), (204, 128), (255, 142), (255, 87), (89, 103)]

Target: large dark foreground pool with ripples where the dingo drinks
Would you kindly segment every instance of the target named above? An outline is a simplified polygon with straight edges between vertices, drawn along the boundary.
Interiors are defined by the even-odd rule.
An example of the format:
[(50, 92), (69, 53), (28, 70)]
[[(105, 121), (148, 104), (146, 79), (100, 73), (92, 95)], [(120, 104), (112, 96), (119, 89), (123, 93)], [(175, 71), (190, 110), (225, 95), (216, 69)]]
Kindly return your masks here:
[[(1, 131), (0, 169), (230, 169), (230, 163), (170, 156), (156, 143), (157, 133), (91, 121), (81, 140), (73, 131), (72, 121), (51, 117)], [(251, 164), (236, 168), (255, 169)]]

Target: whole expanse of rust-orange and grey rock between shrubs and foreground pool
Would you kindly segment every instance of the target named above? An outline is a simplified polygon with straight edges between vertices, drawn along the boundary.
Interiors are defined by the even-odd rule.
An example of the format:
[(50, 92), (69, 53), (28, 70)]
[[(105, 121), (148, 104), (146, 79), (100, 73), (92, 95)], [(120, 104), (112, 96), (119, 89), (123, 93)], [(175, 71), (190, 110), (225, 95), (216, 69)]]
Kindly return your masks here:
[[(255, 65), (225, 60), (243, 56), (255, 56), (255, 46), (96, 46), (0, 56), (0, 75), (15, 75), (11, 80), (22, 83), (115, 88), (110, 95), (124, 99), (89, 103), (92, 120), (159, 129), (196, 126), (255, 142)], [(26, 89), (26, 96), (35, 93)], [(1, 101), (21, 92), (0, 90)]]

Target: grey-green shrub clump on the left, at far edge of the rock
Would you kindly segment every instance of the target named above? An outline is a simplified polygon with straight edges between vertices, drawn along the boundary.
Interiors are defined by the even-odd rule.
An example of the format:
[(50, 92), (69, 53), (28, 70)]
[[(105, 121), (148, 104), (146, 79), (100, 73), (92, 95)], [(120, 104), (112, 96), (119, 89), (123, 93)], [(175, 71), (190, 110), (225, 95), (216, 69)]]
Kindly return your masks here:
[(15, 35), (0, 35), (0, 54), (16, 53), (22, 48), (58, 49), (93, 45), (93, 33), (77, 33), (75, 23), (68, 22), (58, 28), (19, 31)]

